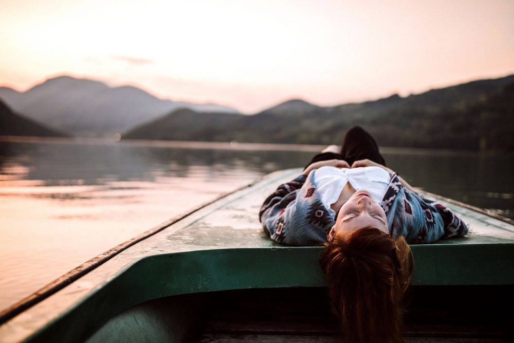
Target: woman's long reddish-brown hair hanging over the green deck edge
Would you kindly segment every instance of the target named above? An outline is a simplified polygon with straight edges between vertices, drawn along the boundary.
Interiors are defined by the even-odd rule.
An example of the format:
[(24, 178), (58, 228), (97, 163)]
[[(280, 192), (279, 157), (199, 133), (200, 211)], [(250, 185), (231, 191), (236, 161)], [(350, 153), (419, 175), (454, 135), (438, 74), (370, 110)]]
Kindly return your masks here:
[(391, 238), (375, 227), (336, 234), (320, 263), (344, 341), (403, 342), (402, 298), (414, 268), (403, 236)]

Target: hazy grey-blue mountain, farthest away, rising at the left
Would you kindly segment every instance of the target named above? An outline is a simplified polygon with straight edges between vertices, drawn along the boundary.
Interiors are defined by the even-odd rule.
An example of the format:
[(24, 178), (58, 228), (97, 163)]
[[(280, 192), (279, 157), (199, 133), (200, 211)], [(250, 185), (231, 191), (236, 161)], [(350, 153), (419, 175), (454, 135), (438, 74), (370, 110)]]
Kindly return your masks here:
[(136, 87), (113, 88), (69, 76), (46, 80), (24, 93), (0, 87), (0, 98), (16, 112), (77, 136), (112, 136), (181, 107), (237, 113), (226, 106), (161, 100)]

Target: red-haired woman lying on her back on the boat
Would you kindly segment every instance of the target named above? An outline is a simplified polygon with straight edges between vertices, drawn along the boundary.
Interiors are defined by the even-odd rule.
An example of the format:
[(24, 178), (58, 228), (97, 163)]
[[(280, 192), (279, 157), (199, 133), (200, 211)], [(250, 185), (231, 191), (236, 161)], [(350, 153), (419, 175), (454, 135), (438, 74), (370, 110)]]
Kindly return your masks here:
[(279, 186), (259, 215), (279, 243), (324, 245), (320, 263), (344, 340), (352, 343), (402, 342), (401, 300), (413, 272), (408, 244), (468, 233), (453, 212), (387, 168), (360, 127), (346, 133), (340, 150), (327, 147)]

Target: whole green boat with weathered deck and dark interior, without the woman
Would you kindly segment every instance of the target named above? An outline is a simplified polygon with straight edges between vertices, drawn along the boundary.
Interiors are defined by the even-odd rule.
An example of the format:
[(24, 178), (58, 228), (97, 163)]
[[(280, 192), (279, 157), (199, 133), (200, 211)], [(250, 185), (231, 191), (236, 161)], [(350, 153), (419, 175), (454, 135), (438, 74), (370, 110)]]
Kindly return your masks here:
[[(86, 262), (0, 314), (0, 341), (338, 341), (321, 248), (276, 244), (257, 218), (299, 173), (270, 174)], [(440, 201), (470, 234), (412, 246), (406, 341), (512, 341), (514, 225)]]

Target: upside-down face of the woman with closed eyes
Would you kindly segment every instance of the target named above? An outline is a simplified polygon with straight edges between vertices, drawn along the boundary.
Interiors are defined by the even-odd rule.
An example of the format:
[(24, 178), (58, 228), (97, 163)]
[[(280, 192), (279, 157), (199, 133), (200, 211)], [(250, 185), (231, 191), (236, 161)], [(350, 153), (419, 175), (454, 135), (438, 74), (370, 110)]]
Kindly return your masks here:
[(376, 227), (389, 234), (386, 212), (368, 191), (361, 189), (341, 206), (328, 238), (336, 233), (347, 234), (366, 226)]

